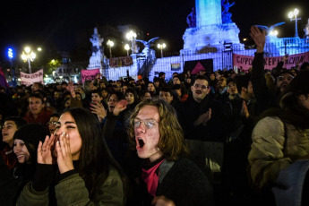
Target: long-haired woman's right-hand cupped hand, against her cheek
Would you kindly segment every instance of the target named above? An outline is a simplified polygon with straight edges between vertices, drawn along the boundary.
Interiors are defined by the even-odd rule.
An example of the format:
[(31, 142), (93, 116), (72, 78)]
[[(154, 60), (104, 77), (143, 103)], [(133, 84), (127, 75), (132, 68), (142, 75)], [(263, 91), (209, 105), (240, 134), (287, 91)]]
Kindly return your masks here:
[(69, 134), (62, 133), (56, 142), (56, 156), (60, 174), (74, 169), (70, 150)]

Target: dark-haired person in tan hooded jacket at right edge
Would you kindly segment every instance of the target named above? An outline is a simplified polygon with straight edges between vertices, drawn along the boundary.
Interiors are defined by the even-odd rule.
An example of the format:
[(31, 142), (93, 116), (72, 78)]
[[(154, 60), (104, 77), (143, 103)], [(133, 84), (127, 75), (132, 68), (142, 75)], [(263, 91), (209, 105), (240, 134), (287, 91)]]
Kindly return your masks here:
[(248, 160), (253, 185), (261, 193), (271, 195), (281, 171), (298, 159), (308, 159), (308, 78), (309, 72), (299, 73), (281, 94), (280, 108), (266, 110), (253, 129)]

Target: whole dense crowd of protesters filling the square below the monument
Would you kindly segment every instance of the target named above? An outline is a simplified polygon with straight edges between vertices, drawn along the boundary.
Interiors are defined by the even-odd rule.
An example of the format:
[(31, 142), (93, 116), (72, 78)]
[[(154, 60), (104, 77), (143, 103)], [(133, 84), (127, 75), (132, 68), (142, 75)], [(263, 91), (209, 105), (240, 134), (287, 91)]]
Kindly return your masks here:
[(0, 202), (305, 205), (309, 63), (265, 70), (250, 35), (247, 73), (0, 88)]

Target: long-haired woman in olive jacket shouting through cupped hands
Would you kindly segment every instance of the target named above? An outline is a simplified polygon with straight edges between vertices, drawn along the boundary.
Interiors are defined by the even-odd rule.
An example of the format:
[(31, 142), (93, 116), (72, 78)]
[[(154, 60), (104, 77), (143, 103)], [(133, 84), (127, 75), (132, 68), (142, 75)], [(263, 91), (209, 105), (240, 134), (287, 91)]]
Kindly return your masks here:
[(19, 205), (124, 205), (125, 176), (103, 141), (98, 120), (86, 109), (65, 111), (55, 135), (39, 142), (38, 150), (36, 174)]

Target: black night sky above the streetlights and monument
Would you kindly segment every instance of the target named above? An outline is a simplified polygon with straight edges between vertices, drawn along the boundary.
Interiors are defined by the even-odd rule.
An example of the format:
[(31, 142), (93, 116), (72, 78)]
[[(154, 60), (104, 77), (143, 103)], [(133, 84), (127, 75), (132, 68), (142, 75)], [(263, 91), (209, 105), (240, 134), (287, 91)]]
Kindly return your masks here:
[[(250, 26), (286, 21), (279, 26), (279, 37), (293, 37), (295, 21), (289, 21), (288, 12), (297, 7), (302, 18), (298, 21), (298, 34), (303, 37), (303, 28), (309, 18), (306, 0), (230, 0), (235, 2), (229, 12), (232, 21), (240, 29), (240, 39), (249, 37)], [(188, 27), (186, 16), (191, 12), (195, 0), (43, 0), (6, 1), (1, 5), (1, 59), (5, 48), (23, 47), (25, 44), (53, 44), (58, 50), (70, 51), (76, 47), (76, 32), (90, 30), (96, 24), (133, 24), (150, 33), (146, 39), (159, 37), (167, 43), (170, 52), (183, 48), (182, 39)], [(84, 39), (89, 41), (89, 37)], [(139, 39), (137, 37), (137, 39)], [(49, 43), (49, 44), (48, 44)]]

